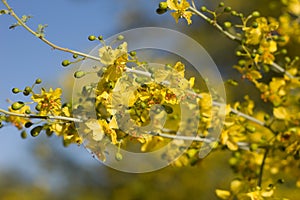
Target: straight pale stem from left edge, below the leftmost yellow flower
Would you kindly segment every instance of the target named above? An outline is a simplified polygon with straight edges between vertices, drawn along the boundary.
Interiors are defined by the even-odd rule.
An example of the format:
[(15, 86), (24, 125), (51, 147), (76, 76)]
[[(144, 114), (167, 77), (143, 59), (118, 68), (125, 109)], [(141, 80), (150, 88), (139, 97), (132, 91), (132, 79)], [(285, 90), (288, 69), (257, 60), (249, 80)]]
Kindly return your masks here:
[(82, 122), (82, 120), (78, 119), (78, 118), (64, 117), (64, 116), (51, 116), (51, 115), (41, 116), (41, 115), (32, 115), (32, 114), (21, 114), (21, 113), (14, 113), (14, 112), (6, 111), (1, 108), (0, 108), (0, 113), (4, 113), (4, 114), (10, 115), (10, 116), (31, 118), (31, 119), (50, 119), (50, 120), (70, 121), (70, 122)]

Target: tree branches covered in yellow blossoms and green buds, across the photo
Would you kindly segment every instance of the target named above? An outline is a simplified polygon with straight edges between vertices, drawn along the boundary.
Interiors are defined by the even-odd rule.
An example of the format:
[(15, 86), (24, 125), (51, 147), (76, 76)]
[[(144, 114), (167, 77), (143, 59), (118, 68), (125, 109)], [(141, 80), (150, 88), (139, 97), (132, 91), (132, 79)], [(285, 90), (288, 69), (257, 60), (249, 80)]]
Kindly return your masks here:
[[(184, 18), (191, 25), (199, 17), (237, 43), (239, 60), (234, 68), (260, 98), (246, 95), (227, 105), (218, 88), (209, 85), (210, 78), (187, 75), (191, 69), (184, 60), (172, 63), (166, 58), (165, 65), (153, 66), (138, 51), (128, 51), (130, 44), (123, 35), (111, 40), (90, 35), (89, 40), (102, 44), (95, 54), (63, 48), (46, 39), (46, 26), (33, 31), (26, 25), (29, 16), (19, 18), (2, 2), (7, 9), (1, 14), (17, 20), (10, 28), (23, 26), (52, 48), (73, 54), (73, 61), (62, 61), (64, 67), (85, 63), (74, 73), (80, 93), (74, 94), (72, 104), (62, 102), (60, 88), (36, 92), (40, 79), (24, 90), (13, 89), (34, 102), (32, 106), (15, 101), (8, 111), (0, 110), (2, 121), (16, 126), (23, 137), (24, 130), (31, 129), (34, 137), (41, 131), (55, 133), (65, 145), (85, 141), (95, 157), (110, 166), (126, 163), (124, 150), (151, 154), (163, 149), (159, 152), (163, 161), (154, 163), (157, 168), (170, 162), (178, 167), (197, 165), (210, 150), (229, 150), (229, 164), (238, 178), (229, 190), (216, 189), (221, 199), (271, 198), (285, 177), (293, 179), (290, 173), (299, 186), (299, 57), (291, 51), (299, 42), (298, 1), (274, 1), (284, 8), (273, 17), (261, 17), (258, 11), (244, 14), (223, 2), (216, 9), (186, 0), (159, 4), (157, 12), (170, 12), (176, 23)], [(96, 82), (87, 83), (85, 78)], [(234, 78), (226, 84), (238, 87)], [(219, 138), (212, 134), (218, 130), (222, 130)]]

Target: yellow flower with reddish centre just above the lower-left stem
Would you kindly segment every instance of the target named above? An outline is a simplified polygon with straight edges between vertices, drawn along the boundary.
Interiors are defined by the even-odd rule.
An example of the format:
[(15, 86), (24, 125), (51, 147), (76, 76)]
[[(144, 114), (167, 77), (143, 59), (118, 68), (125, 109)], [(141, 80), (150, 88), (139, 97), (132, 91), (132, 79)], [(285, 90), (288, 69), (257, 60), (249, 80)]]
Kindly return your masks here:
[(38, 103), (40, 115), (47, 115), (49, 113), (53, 115), (61, 114), (61, 88), (56, 88), (54, 91), (52, 88), (47, 92), (44, 88), (41, 90), (41, 94), (34, 94), (31, 99)]

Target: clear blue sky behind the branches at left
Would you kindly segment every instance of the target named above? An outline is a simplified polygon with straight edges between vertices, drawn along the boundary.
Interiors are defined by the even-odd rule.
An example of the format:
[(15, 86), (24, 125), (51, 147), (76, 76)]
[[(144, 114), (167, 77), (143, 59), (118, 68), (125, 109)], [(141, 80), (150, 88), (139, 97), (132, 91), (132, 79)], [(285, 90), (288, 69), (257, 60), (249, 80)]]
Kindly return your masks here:
[[(127, 27), (122, 21), (126, 9), (132, 11), (143, 9), (153, 15), (154, 20), (158, 19), (160, 16), (154, 13), (158, 2), (156, 0), (8, 0), (19, 16), (23, 14), (33, 16), (27, 24), (34, 30), (38, 24), (48, 24), (47, 39), (57, 45), (83, 52), (88, 52), (98, 44), (89, 42), (88, 35), (101, 34), (108, 38), (126, 30)], [(2, 3), (0, 9), (4, 9)], [(16, 101), (22, 98), (22, 95), (11, 93), (13, 87), (23, 89), (26, 85), (31, 85), (36, 78), (41, 78), (44, 86), (60, 87), (63, 84), (63, 74), (68, 71), (60, 63), (64, 59), (71, 58), (69, 54), (52, 50), (22, 27), (9, 30), (8, 27), (13, 23), (15, 20), (12, 17), (0, 16), (1, 108), (8, 107), (6, 99)], [(147, 26), (147, 22), (144, 24)], [(43, 139), (41, 136), (23, 140), (14, 127), (0, 129), (0, 170), (13, 167), (27, 173), (32, 169), (34, 173), (32, 166), (35, 161), (28, 148)], [(60, 138), (52, 137), (48, 141), (50, 144), (62, 146)], [(96, 163), (82, 147), (78, 148), (76, 145), (69, 148), (61, 147), (61, 151), (70, 156), (72, 154), (80, 156), (82, 162)]]

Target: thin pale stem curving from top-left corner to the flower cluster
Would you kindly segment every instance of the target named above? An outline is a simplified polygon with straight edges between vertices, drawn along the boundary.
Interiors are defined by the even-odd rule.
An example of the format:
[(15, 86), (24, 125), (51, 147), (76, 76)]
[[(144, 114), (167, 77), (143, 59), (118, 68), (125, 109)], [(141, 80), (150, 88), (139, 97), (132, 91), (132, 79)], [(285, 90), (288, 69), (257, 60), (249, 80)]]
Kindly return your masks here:
[(8, 9), (9, 14), (11, 16), (13, 16), (21, 26), (23, 26), (28, 32), (30, 32), (31, 34), (33, 34), (35, 37), (39, 38), (40, 40), (42, 40), (43, 42), (45, 42), (47, 45), (49, 45), (50, 47), (52, 47), (54, 50), (57, 49), (57, 50), (60, 50), (60, 51), (64, 51), (64, 52), (68, 52), (68, 53), (72, 53), (72, 54), (77, 54), (77, 55), (85, 57), (85, 58), (90, 58), (92, 60), (100, 61), (100, 58), (98, 58), (98, 57), (91, 56), (89, 54), (85, 54), (85, 53), (82, 53), (82, 52), (79, 52), (79, 51), (74, 51), (74, 50), (71, 50), (71, 49), (68, 49), (68, 48), (64, 48), (64, 47), (60, 47), (60, 46), (57, 46), (57, 45), (53, 44), (52, 42), (50, 42), (46, 38), (40, 36), (38, 33), (36, 33), (34, 30), (32, 30), (29, 26), (27, 26), (26, 23), (24, 23), (18, 17), (18, 15), (16, 15), (16, 13), (14, 12), (14, 10), (8, 5), (8, 3), (7, 3), (6, 0), (2, 0), (2, 2), (6, 6), (6, 8)]

